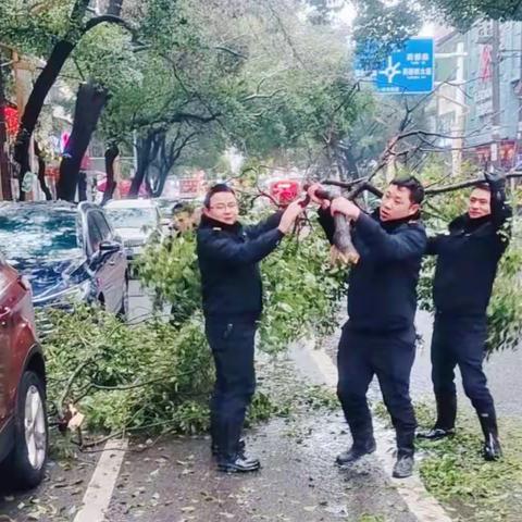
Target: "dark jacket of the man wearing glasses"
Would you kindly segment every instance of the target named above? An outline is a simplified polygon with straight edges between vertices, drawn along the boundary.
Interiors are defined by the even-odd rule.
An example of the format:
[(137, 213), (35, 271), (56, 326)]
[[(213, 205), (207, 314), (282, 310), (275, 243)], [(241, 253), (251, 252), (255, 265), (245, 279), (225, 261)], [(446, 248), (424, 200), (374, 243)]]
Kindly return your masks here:
[(279, 244), (281, 212), (254, 226), (226, 225), (203, 215), (197, 234), (207, 318), (257, 320), (262, 310), (258, 262)]

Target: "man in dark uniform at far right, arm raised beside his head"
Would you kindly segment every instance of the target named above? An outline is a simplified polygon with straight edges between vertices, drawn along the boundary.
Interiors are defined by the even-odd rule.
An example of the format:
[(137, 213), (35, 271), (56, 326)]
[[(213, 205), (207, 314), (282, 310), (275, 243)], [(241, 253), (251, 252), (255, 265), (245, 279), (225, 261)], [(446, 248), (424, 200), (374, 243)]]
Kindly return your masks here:
[(427, 253), (438, 256), (433, 282), (435, 324), (432, 381), (437, 403), (434, 427), (420, 438), (439, 439), (455, 433), (457, 394), (455, 366), (460, 368), (485, 437), (484, 458), (501, 456), (492, 395), (482, 369), (487, 337), (486, 309), (498, 262), (509, 243), (504, 226), (511, 216), (505, 182), (486, 175), (471, 192), (468, 212), (449, 224), (449, 234), (431, 238)]

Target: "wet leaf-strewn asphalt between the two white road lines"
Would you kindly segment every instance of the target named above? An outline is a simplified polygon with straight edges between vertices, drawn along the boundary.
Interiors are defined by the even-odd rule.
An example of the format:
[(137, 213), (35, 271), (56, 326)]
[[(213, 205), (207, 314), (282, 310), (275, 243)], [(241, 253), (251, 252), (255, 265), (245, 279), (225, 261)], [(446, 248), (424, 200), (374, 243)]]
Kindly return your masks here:
[(248, 436), (260, 472), (217, 473), (206, 438), (178, 438), (128, 453), (108, 512), (113, 522), (412, 522), (406, 505), (369, 457), (334, 465), (350, 443), (340, 415), (278, 419)]

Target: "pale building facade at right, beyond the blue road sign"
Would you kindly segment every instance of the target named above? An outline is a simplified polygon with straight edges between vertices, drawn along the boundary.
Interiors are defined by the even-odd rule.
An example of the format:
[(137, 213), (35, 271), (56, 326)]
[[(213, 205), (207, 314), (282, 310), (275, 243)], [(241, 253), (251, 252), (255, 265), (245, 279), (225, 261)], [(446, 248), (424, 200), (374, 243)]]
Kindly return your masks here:
[[(484, 21), (465, 34), (451, 32), (436, 39), (442, 57), (436, 60), (436, 126), (444, 136), (462, 134), (464, 158), (478, 163), (492, 161), (496, 142), (499, 164), (512, 169), (522, 158), (522, 23), (500, 23), (496, 42), (494, 37), (493, 22)], [(459, 49), (465, 54), (460, 63), (451, 55)], [(440, 144), (451, 148), (456, 140), (443, 138)]]

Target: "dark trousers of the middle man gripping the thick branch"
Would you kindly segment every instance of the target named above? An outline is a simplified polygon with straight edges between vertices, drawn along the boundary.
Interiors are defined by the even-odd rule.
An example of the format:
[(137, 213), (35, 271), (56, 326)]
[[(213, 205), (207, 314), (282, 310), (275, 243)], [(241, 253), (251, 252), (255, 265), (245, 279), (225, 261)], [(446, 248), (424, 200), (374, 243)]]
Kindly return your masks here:
[(401, 456), (413, 455), (415, 414), (410, 399), (410, 373), (415, 358), (415, 334), (373, 335), (343, 327), (337, 356), (339, 397), (356, 446), (373, 437), (366, 391), (374, 375), (391, 417)]

